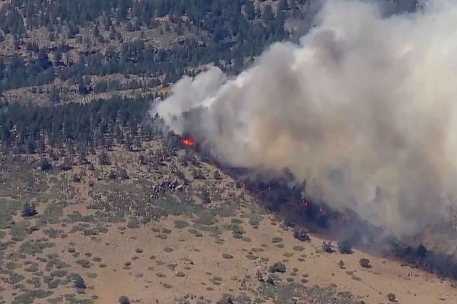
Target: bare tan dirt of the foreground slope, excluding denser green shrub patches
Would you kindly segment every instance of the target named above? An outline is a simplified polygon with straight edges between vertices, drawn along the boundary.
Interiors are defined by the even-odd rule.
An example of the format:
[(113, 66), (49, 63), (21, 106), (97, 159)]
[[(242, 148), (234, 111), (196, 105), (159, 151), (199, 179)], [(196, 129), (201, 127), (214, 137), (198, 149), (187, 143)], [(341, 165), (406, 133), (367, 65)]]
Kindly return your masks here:
[[(157, 147), (157, 143), (152, 143), (145, 149)], [(65, 275), (61, 274), (58, 286), (48, 289), (52, 293), (43, 298), (36, 296), (33, 303), (117, 303), (122, 295), (132, 303), (139, 304), (185, 303), (185, 300), (191, 304), (227, 303), (221, 299), (224, 294), (230, 294), (235, 299), (234, 303), (379, 304), (389, 302), (389, 293), (395, 294), (396, 300), (402, 304), (457, 303), (457, 289), (453, 281), (357, 250), (345, 255), (323, 252), (322, 242), (325, 239), (312, 233), (309, 234), (311, 240), (307, 242), (294, 238), (292, 231), (277, 221), (276, 217), (266, 213), (260, 202), (249, 193), (228, 188), (234, 181), (227, 175), (218, 181), (210, 178), (205, 181), (191, 180), (191, 169), (181, 167), (177, 161), (170, 160), (167, 168), (173, 164), (183, 169), (184, 175), (191, 180), (189, 189), (211, 184), (212, 191), (220, 192), (221, 197), (195, 213), (173, 215), (171, 212), (158, 221), (139, 225), (133, 225), (127, 219), (118, 222), (97, 222), (94, 219), (69, 221), (74, 215), (88, 218), (100, 216), (100, 210), (88, 209), (88, 206), (96, 201), (97, 191), (101, 196), (105, 195), (101, 189), (112, 188), (127, 193), (132, 187), (143, 186), (141, 177), (147, 173), (140, 170), (141, 165), (135, 161), (136, 155), (119, 150), (111, 153), (117, 166), (127, 164), (124, 167), (128, 169), (130, 180), (117, 183), (96, 178), (102, 175), (97, 171), (102, 169), (97, 166), (95, 173), (88, 174), (83, 181), (70, 181), (67, 185), (65, 180), (71, 180), (74, 173), (84, 172), (84, 169), (75, 166), (57, 177), (49, 177), (54, 183), (49, 183), (50, 187), (43, 192), (47, 199), (37, 204), (38, 216), (35, 220), (38, 222), (43, 220), (44, 215), (54, 212), (52, 208), (57, 208), (52, 205), (54, 207), (50, 209), (50, 201), (65, 200), (63, 193), (73, 193), (69, 199), (71, 203), (54, 212), (58, 214), (57, 220), (48, 220), (22, 241), (14, 240), (14, 229), (31, 227), (33, 222), (23, 219), (20, 212), (12, 217), (14, 229), (0, 229), (0, 233), (5, 232), (0, 234), (1, 244), (9, 244), (3, 248), (3, 258), (0, 260), (2, 269), (13, 272), (0, 273), (0, 291), (4, 303), (32, 303), (27, 299), (21, 302), (18, 296), (21, 292), (27, 294), (32, 290), (29, 285), (34, 277), (41, 277), (35, 280), (42, 281), (40, 288), (43, 289), (46, 282), (59, 277), (56, 272), (58, 269), (64, 269), (65, 275), (80, 274), (87, 288), (75, 290), (71, 280), (64, 282)], [(113, 164), (111, 168), (116, 165)], [(212, 176), (217, 170), (206, 163), (201, 164), (200, 168), (206, 176)], [(106, 168), (103, 170), (108, 171)], [(151, 173), (151, 176), (154, 174)], [(152, 189), (149, 182), (164, 179), (151, 176), (146, 182), (149, 189)], [(95, 185), (90, 186), (89, 181)], [(60, 192), (57, 191), (62, 185)], [(121, 186), (125, 188), (118, 188)], [(147, 191), (144, 189), (148, 188), (138, 189)], [(53, 191), (60, 193), (58, 198), (52, 196), (53, 199), (50, 199), (55, 194)], [(179, 191), (171, 193), (179, 196)], [(163, 194), (164, 197), (166, 195)], [(149, 196), (149, 193), (145, 196)], [(5, 206), (12, 200), (4, 194), (1, 199)], [(106, 197), (106, 201), (110, 200)], [(92, 228), (100, 233), (86, 233)], [(50, 231), (58, 236), (52, 236)], [(53, 246), (42, 246), (41, 252), (20, 256), (21, 252), (26, 252), (23, 249), (25, 242), (36, 243), (43, 238), (46, 242), (52, 242)], [(368, 258), (372, 267), (362, 268), (359, 263), (361, 258)], [(49, 260), (56, 261), (54, 267), (49, 266)], [(340, 267), (340, 261), (343, 261), (344, 267)], [(276, 262), (282, 262), (286, 271), (274, 274), (274, 285), (261, 282), (256, 273), (268, 275), (269, 267)], [(31, 271), (28, 268), (33, 263), (36, 263), (37, 269)], [(64, 266), (55, 266), (59, 263)], [(11, 278), (17, 275), (24, 278), (12, 284)], [(346, 302), (331, 302), (322, 298), (319, 302), (311, 300), (309, 294), (308, 297), (295, 298), (291, 294), (292, 302), (282, 301), (279, 295), (281, 286), (292, 286), (292, 283), (309, 289), (314, 285), (329, 287), (333, 290), (332, 299), (338, 298), (338, 293), (345, 292), (351, 293), (352, 298)]]

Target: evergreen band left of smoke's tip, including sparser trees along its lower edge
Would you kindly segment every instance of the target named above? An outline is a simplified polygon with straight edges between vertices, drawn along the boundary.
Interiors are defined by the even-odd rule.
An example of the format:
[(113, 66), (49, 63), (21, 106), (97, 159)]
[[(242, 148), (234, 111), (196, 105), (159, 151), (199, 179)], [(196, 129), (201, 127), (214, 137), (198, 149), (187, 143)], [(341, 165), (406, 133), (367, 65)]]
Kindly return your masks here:
[[(83, 162), (89, 153), (97, 154), (96, 149), (110, 150), (116, 144), (127, 150), (141, 149), (143, 141), (162, 138), (166, 131), (162, 119), (149, 115), (150, 100), (116, 97), (48, 107), (1, 103), (2, 151), (46, 154), (55, 160), (68, 156), (73, 163)], [(172, 132), (167, 133), (165, 154), (173, 153), (180, 144)]]

